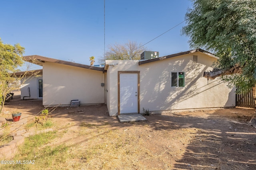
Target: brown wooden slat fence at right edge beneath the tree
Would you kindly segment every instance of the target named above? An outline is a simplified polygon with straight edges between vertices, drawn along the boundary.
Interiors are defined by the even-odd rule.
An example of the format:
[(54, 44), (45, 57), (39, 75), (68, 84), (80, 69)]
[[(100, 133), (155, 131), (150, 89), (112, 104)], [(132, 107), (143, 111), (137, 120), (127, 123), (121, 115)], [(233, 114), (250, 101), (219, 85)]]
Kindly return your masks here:
[(247, 93), (236, 94), (236, 106), (254, 108), (255, 105), (252, 90), (250, 90), (250, 92)]

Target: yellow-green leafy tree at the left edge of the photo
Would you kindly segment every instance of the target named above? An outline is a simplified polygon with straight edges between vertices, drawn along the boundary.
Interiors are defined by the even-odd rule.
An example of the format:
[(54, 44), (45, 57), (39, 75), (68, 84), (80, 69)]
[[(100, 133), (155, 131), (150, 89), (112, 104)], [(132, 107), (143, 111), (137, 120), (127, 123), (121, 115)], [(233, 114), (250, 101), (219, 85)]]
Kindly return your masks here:
[[(6, 96), (8, 96), (7, 94), (9, 94), (13, 88), (14, 84), (10, 83), (15, 82), (13, 74), (11, 73), (16, 72), (18, 66), (22, 66), (23, 53), (24, 47), (21, 47), (20, 44), (4, 44), (0, 39), (0, 113), (4, 107)], [(10, 95), (8, 97), (10, 97)]]

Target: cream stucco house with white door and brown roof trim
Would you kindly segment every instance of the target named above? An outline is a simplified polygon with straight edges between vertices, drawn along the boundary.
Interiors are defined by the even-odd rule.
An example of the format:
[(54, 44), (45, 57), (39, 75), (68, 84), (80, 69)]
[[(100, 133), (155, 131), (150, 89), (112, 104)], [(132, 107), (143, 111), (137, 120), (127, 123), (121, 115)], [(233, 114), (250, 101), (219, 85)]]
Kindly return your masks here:
[(235, 106), (235, 88), (208, 81), (216, 57), (196, 49), (149, 60), (106, 61), (104, 68), (25, 56), (43, 66), (43, 105), (106, 104), (110, 116)]

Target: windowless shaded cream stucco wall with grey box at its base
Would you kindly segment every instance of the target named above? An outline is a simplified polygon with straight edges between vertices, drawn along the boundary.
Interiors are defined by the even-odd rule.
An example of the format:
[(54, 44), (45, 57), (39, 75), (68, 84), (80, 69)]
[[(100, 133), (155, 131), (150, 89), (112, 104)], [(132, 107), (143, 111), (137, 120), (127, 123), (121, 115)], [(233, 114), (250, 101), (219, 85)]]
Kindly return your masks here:
[(43, 63), (43, 105), (70, 106), (71, 100), (80, 104), (104, 104), (104, 73), (102, 71)]

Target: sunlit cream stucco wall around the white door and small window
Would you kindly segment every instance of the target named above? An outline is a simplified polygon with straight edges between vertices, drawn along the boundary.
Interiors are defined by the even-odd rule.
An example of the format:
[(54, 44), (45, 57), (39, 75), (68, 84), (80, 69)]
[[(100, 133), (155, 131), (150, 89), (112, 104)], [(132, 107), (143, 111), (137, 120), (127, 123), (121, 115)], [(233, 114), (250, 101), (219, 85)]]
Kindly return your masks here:
[[(198, 56), (198, 63), (192, 56)], [(235, 106), (235, 89), (218, 78), (208, 82), (204, 71), (216, 60), (201, 52), (138, 65), (138, 60), (106, 61), (107, 106), (110, 116), (118, 114), (118, 71), (140, 71), (140, 113), (149, 111)], [(171, 72), (185, 72), (185, 87), (171, 87)]]

